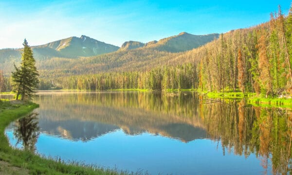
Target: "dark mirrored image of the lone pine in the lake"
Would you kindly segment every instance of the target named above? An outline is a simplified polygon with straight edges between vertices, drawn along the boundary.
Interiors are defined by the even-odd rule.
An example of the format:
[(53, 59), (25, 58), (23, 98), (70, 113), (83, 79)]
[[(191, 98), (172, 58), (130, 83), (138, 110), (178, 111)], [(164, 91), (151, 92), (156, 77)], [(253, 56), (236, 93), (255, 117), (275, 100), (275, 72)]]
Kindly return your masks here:
[(17, 138), (16, 144), (22, 142), (24, 150), (27, 151), (36, 151), (36, 143), (39, 136), (37, 115), (37, 113), (31, 113), (15, 122), (14, 136)]

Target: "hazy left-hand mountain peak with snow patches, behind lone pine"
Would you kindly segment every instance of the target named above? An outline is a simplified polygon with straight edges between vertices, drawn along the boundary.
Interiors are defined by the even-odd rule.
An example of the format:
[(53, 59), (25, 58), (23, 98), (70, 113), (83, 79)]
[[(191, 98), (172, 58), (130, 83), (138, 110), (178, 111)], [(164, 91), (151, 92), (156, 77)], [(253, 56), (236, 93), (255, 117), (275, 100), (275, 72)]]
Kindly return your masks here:
[[(79, 56), (94, 56), (117, 51), (119, 47), (107, 44), (88, 36), (69, 37), (40, 46), (32, 46), (36, 60), (52, 57), (76, 58)], [(21, 49), (1, 49), (0, 63), (20, 58)]]

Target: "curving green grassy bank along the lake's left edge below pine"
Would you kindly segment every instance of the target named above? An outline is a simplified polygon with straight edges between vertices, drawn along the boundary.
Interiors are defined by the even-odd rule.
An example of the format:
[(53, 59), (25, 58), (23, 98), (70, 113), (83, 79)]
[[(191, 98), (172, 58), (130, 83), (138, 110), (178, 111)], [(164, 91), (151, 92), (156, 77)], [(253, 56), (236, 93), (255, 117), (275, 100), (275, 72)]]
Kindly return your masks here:
[[(22, 151), (10, 147), (4, 130), (9, 123), (17, 120), (21, 116), (30, 113), (38, 105), (34, 103), (14, 103), (0, 102), (0, 161), (6, 162), (9, 166), (16, 167), (19, 171), (27, 170), (29, 174), (49, 174), (49, 175), (125, 175), (127, 172), (104, 169), (97, 166), (86, 166), (79, 163), (64, 162), (59, 159), (47, 159), (39, 157), (30, 151)], [(2, 163), (3, 164), (3, 163)], [(0, 164), (1, 165), (1, 164)], [(6, 165), (4, 168), (7, 168)], [(1, 174), (0, 166), (0, 174)], [(17, 174), (13, 172), (11, 174)], [(19, 174), (22, 174), (21, 172)]]

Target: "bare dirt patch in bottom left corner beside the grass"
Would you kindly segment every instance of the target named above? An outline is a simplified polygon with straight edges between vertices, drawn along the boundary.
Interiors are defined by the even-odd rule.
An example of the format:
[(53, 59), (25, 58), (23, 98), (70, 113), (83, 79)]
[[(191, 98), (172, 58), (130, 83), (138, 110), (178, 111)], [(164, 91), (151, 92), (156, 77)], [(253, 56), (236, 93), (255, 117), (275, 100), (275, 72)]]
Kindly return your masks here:
[(0, 160), (0, 175), (28, 175), (28, 170)]

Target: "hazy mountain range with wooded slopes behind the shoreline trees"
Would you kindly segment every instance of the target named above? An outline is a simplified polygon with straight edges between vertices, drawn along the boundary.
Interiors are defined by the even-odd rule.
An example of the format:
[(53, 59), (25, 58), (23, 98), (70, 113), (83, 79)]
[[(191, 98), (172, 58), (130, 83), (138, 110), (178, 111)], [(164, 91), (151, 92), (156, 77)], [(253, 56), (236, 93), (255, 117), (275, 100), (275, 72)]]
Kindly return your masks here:
[[(40, 76), (50, 78), (110, 71), (149, 70), (158, 65), (175, 65), (186, 59), (185, 56), (179, 57), (179, 55), (185, 55), (184, 51), (204, 45), (217, 38), (218, 35), (191, 35), (184, 32), (146, 44), (128, 41), (119, 50), (118, 47), (82, 35), (80, 38), (70, 37), (32, 48)], [(118, 52), (100, 54), (117, 50)], [(13, 62), (19, 63), (20, 54), (18, 53), (18, 59), (13, 59), (14, 56), (9, 56), (7, 50), (0, 50), (0, 55), (1, 52), (5, 58), (0, 57), (0, 63), (1, 60), (6, 61), (5, 64), (0, 64), (0, 70), (9, 76), (14, 70)], [(14, 50), (9, 50), (9, 52), (17, 54)]]

